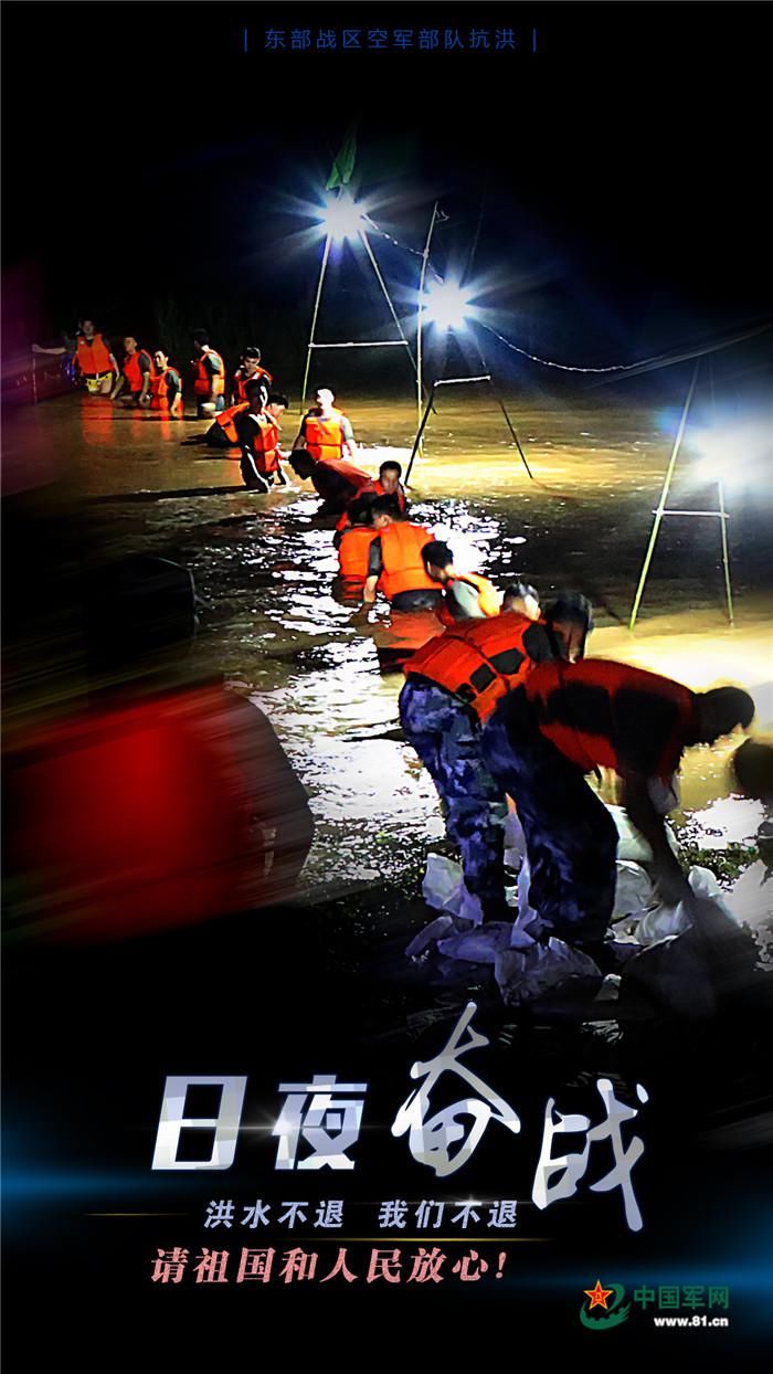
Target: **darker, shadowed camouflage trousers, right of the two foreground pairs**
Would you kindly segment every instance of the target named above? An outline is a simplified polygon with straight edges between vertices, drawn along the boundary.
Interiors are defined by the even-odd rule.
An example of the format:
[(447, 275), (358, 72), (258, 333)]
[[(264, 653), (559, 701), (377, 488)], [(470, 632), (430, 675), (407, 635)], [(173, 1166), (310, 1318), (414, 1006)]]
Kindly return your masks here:
[[(522, 719), (520, 719), (522, 717)], [(531, 870), (529, 904), (544, 932), (574, 945), (604, 938), (615, 897), (618, 831), (582, 771), (519, 713), (514, 738), (498, 708), (482, 739), (485, 765), (515, 805)]]

